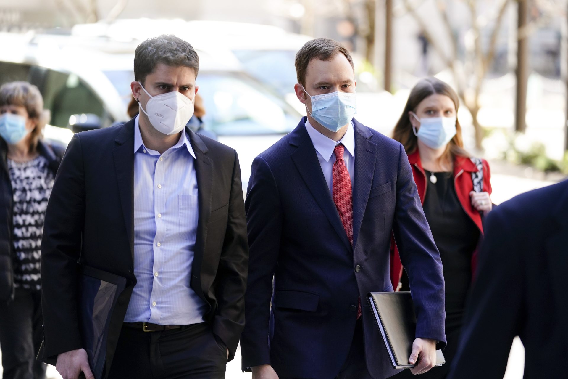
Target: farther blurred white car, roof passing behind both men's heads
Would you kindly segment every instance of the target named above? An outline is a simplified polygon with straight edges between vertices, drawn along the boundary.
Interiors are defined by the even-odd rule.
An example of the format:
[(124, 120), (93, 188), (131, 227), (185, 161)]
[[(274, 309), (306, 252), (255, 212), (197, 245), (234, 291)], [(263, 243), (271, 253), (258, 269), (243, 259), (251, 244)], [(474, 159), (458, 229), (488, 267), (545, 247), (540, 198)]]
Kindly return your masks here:
[[(241, 68), (258, 81), (271, 86), (300, 114), (304, 105), (294, 93), (296, 52), (312, 38), (294, 34), (282, 28), (243, 22), (185, 21), (160, 19), (120, 19), (108, 24), (80, 24), (73, 35), (133, 39), (149, 38), (171, 33), (190, 41), (194, 47), (215, 46), (237, 60)], [(402, 109), (395, 107), (392, 95), (378, 86), (377, 77), (370, 72), (362, 57), (353, 56), (357, 78), (357, 115), (365, 125), (390, 135)]]

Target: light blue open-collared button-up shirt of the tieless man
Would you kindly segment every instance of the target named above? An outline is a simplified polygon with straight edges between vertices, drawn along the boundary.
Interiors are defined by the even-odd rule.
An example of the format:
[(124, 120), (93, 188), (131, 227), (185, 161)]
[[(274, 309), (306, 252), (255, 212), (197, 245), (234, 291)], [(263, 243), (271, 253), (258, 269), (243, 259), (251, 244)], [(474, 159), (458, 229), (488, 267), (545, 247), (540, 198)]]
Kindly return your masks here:
[(195, 153), (185, 130), (162, 155), (134, 125), (134, 274), (125, 322), (203, 322), (207, 305), (190, 287), (198, 224)]

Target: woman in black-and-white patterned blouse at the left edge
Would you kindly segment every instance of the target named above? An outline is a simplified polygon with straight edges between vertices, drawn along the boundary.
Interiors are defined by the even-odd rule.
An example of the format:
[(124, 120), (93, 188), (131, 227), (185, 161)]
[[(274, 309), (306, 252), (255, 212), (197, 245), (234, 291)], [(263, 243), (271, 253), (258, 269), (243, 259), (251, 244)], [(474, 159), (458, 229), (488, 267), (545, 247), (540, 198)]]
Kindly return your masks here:
[(5, 379), (45, 378), (41, 234), (62, 152), (42, 141), (48, 119), (36, 86), (0, 87), (0, 345)]

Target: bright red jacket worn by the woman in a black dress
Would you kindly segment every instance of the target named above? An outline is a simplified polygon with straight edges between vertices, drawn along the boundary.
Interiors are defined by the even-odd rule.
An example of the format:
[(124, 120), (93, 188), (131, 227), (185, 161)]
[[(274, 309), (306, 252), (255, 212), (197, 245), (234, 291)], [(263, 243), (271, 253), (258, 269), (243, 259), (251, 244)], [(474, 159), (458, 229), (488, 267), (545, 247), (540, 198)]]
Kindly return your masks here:
[[(418, 194), (420, 195), (420, 201), (424, 205), (424, 199), (426, 198), (426, 189), (427, 189), (427, 177), (424, 169), (422, 168), (422, 163), (420, 161), (420, 153), (416, 150), (415, 153), (412, 153), (408, 156), (408, 161), (412, 166), (412, 174), (414, 174), (414, 181), (418, 188)], [(477, 225), (479, 228), (479, 232), (483, 235), (483, 224), (481, 220), (481, 214), (474, 207), (471, 205), (471, 197), (469, 193), (473, 191), (473, 180), (471, 180), (471, 173), (478, 172), (477, 166), (466, 157), (457, 157), (454, 160), (454, 187), (456, 188), (456, 194), (460, 203), (467, 213), (470, 216), (471, 220)], [(488, 192), (491, 194), (491, 173), (489, 170), (489, 165), (487, 161), (483, 160), (483, 191)], [(471, 273), (475, 272), (475, 268), (477, 266), (477, 251), (474, 251), (473, 255), (471, 256)], [(394, 238), (391, 239), (391, 282), (392, 288), (395, 290), (398, 289), (398, 284), (400, 282), (400, 278), (402, 277), (402, 263), (400, 262), (400, 257), (398, 255), (398, 249), (396, 248), (396, 244)]]

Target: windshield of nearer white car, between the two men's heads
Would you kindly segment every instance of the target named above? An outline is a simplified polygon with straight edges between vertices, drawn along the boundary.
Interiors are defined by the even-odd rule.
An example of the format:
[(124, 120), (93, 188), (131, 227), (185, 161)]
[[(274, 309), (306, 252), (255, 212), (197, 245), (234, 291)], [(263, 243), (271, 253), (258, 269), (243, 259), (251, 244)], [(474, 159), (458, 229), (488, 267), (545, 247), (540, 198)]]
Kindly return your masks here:
[(199, 73), (196, 84), (205, 127), (217, 135), (282, 134), (298, 124), (299, 114), (283, 99), (244, 74)]

